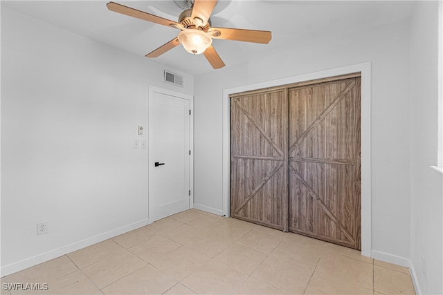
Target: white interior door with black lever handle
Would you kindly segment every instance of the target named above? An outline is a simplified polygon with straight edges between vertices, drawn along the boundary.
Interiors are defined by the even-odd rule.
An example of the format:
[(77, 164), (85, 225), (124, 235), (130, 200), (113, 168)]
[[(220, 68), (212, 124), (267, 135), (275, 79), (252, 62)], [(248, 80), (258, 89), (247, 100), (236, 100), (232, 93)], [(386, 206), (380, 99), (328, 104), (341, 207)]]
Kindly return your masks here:
[(190, 99), (150, 91), (150, 221), (190, 208)]

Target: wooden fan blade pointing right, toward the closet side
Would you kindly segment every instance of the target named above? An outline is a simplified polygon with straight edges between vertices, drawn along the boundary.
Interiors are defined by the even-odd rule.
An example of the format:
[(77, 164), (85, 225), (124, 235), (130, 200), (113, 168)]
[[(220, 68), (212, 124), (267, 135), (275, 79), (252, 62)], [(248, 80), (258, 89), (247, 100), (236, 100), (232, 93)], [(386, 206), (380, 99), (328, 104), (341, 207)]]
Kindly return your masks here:
[(228, 39), (253, 43), (268, 44), (271, 41), (271, 32), (267, 30), (244, 30), (233, 28), (210, 28), (208, 32), (218, 31), (219, 35), (213, 35), (215, 39)]

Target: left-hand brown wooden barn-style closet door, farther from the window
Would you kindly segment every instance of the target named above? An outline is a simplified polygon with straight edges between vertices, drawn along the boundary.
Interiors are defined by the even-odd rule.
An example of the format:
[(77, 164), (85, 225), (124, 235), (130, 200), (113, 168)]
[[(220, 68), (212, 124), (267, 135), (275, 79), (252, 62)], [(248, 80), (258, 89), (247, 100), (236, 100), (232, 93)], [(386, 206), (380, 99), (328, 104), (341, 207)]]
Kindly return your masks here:
[(231, 216), (287, 231), (287, 90), (231, 97)]

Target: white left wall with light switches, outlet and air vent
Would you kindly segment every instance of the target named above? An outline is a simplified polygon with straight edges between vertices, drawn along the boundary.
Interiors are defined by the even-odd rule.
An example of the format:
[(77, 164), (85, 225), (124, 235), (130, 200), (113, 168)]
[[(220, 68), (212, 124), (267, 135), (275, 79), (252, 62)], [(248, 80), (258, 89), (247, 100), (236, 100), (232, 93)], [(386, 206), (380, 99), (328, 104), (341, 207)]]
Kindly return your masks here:
[(163, 69), (1, 8), (1, 276), (147, 223), (148, 86), (193, 93)]

